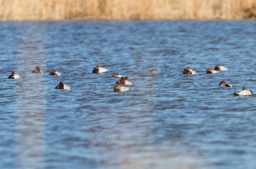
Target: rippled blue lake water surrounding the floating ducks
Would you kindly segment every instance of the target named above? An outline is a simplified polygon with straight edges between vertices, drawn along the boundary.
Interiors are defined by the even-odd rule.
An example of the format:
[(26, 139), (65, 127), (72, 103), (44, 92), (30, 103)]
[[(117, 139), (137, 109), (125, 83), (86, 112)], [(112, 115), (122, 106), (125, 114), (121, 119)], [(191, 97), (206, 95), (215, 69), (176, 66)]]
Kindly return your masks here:
[(255, 21), (0, 22), (0, 168), (255, 169), (255, 66)]

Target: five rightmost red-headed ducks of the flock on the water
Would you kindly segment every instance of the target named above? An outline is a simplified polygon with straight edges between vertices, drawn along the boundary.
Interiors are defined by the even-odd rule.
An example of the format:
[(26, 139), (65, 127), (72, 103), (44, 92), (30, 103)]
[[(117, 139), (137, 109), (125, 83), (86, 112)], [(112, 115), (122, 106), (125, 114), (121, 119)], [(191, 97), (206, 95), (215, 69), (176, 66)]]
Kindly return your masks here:
[[(206, 74), (214, 74), (214, 73), (219, 73), (220, 71), (228, 71), (228, 68), (225, 68), (224, 66), (221, 65), (216, 65), (214, 67), (214, 70), (212, 68), (209, 68), (206, 70)], [(183, 70), (183, 74), (196, 74), (196, 71), (193, 71), (190, 67), (186, 67)], [(222, 81), (219, 83), (220, 87), (232, 87), (232, 84), (226, 83), (226, 81)], [(235, 92), (235, 96), (248, 96), (252, 95), (253, 92), (248, 90), (246, 86), (243, 87), (241, 91)]]

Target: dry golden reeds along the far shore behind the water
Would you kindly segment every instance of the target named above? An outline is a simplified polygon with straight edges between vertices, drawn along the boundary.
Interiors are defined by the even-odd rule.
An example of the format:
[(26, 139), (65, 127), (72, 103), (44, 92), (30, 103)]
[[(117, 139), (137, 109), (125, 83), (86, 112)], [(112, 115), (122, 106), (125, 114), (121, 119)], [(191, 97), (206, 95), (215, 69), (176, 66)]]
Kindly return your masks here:
[(256, 0), (0, 0), (0, 20), (256, 19)]

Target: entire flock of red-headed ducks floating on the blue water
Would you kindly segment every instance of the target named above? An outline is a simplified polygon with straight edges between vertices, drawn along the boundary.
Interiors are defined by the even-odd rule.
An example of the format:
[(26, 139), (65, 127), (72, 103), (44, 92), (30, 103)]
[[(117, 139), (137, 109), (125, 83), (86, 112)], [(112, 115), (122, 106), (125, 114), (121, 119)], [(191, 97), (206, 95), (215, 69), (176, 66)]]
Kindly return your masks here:
[[(206, 70), (207, 74), (214, 74), (214, 73), (219, 73), (220, 71), (227, 71), (228, 68), (225, 68), (224, 66), (221, 65), (216, 65), (214, 67), (214, 69), (209, 68)], [(104, 73), (107, 72), (109, 70), (107, 70), (106, 68), (102, 68), (101, 66), (97, 65), (94, 67), (92, 73)], [(32, 73), (42, 73), (41, 68), (39, 68), (38, 66), (32, 71)], [(156, 71), (154, 70), (150, 70), (149, 73), (156, 73)], [(186, 67), (183, 70), (183, 74), (196, 74), (196, 71), (193, 71), (190, 67)], [(51, 76), (60, 76), (61, 74), (59, 72), (57, 72), (56, 70), (52, 70), (50, 71), (50, 75)], [(129, 78), (127, 76), (122, 76), (119, 75), (118, 73), (114, 73), (112, 75), (112, 77), (117, 77), (120, 78), (119, 81), (116, 82), (116, 86), (114, 87), (114, 91), (116, 92), (125, 92), (125, 91), (129, 91), (130, 89), (126, 86), (126, 85), (132, 85), (133, 83), (129, 80)], [(18, 79), (20, 78), (20, 76), (13, 71), (12, 74), (8, 77), (10, 79)], [(122, 86), (125, 85), (125, 86)], [(232, 87), (231, 84), (226, 83), (226, 81), (222, 81), (219, 83), (220, 87)], [(0, 86), (1, 88), (1, 86)], [(70, 86), (64, 84), (63, 82), (60, 82), (55, 89), (66, 89), (66, 90), (70, 90)], [(235, 96), (248, 96), (248, 95), (252, 95), (252, 91), (248, 90), (248, 88), (246, 86), (243, 87), (243, 90), (235, 92), (234, 93)]]

